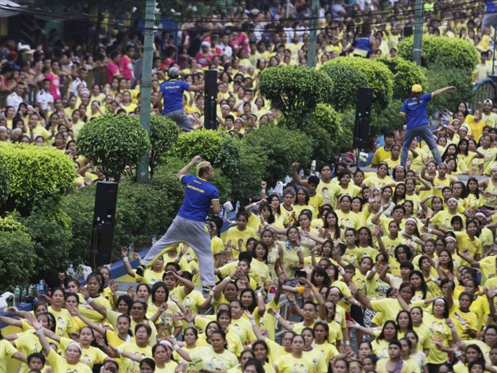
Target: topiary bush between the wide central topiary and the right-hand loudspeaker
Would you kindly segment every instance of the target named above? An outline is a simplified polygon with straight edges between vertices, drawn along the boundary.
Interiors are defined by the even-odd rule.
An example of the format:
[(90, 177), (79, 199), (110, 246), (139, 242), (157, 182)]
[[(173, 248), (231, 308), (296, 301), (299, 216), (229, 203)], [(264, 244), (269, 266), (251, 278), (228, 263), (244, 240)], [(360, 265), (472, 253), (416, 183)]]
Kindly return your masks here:
[(356, 106), (357, 88), (366, 87), (366, 75), (356, 66), (345, 64), (324, 64), (321, 69), (330, 76), (334, 83), (331, 101), (338, 111)]

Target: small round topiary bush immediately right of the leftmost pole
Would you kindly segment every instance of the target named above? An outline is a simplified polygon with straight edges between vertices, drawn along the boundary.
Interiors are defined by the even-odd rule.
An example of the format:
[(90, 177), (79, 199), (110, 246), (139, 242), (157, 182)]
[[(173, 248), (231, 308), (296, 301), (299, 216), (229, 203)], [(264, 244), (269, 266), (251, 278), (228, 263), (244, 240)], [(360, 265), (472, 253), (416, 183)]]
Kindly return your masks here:
[(150, 179), (154, 177), (155, 168), (159, 165), (160, 157), (166, 154), (178, 140), (181, 133), (178, 125), (164, 115), (150, 117)]

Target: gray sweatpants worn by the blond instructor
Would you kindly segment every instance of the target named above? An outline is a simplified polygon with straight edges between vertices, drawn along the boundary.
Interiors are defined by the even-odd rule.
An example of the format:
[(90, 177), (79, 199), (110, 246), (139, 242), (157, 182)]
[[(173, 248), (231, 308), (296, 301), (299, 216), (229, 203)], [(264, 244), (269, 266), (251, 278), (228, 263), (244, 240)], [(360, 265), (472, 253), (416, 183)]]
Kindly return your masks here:
[(159, 257), (175, 249), (181, 242), (191, 246), (197, 255), (202, 285), (214, 286), (216, 280), (211, 237), (203, 221), (189, 220), (176, 215), (164, 236), (150, 248), (141, 263), (147, 268), (151, 267)]

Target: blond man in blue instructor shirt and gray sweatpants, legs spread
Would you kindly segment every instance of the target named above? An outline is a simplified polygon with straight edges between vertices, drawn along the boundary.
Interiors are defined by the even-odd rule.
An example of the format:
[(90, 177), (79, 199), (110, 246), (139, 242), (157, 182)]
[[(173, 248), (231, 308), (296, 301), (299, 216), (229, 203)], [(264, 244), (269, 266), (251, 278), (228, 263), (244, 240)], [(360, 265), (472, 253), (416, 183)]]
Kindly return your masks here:
[[(187, 175), (194, 165), (197, 165), (197, 176)], [(164, 236), (142, 259), (136, 273), (143, 276), (145, 268), (150, 268), (166, 252), (184, 242), (195, 251), (203, 288), (209, 291), (215, 285), (214, 259), (205, 218), (211, 207), (216, 214), (220, 211), (219, 191), (209, 182), (214, 178), (214, 169), (209, 162), (202, 161), (200, 156), (195, 156), (176, 177), (186, 187), (183, 204)]]

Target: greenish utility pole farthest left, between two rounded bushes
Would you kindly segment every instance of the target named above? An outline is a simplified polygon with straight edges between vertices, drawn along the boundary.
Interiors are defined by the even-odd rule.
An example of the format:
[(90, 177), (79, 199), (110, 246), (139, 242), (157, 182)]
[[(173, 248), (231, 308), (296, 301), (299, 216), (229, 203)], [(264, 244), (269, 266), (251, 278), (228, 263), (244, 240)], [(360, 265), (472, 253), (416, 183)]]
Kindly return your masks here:
[[(152, 60), (154, 56), (154, 17), (155, 0), (146, 0), (145, 3), (145, 38), (143, 43), (142, 83), (140, 122), (150, 136), (150, 89), (152, 88)], [(138, 163), (138, 184), (149, 182), (149, 153), (143, 155)]]

